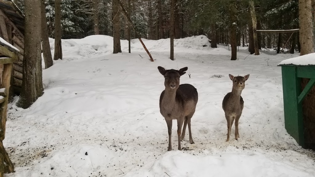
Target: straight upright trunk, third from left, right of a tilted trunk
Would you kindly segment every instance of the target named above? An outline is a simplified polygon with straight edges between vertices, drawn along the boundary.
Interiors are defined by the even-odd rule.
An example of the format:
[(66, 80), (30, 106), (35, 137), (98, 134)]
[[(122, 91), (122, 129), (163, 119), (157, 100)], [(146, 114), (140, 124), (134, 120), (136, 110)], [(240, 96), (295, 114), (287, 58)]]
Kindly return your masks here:
[(61, 8), (60, 0), (55, 0), (55, 52), (54, 60), (62, 60), (61, 47)]

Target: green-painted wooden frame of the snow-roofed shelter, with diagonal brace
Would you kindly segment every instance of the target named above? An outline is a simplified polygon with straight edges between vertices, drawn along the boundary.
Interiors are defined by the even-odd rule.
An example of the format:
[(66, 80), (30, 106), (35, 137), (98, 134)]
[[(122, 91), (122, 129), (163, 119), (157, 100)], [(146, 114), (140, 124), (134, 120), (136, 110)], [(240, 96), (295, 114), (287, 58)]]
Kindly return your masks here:
[[(282, 68), (285, 129), (305, 147), (302, 101), (315, 84), (315, 65), (279, 65)], [(309, 78), (301, 90), (301, 78)]]

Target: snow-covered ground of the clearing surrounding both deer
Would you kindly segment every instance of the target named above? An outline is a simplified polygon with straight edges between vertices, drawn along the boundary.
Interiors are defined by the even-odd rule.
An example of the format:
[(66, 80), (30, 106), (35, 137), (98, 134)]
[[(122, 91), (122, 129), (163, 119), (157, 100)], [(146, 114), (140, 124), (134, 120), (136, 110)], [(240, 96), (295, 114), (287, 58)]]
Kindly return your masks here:
[[(63, 60), (43, 70), (43, 96), (28, 109), (14, 102), (8, 111), (4, 146), (16, 172), (6, 176), (315, 175), (315, 153), (298, 146), (284, 128), (277, 65), (299, 54), (255, 56), (240, 48), (238, 60), (231, 61), (226, 48), (211, 49), (205, 36), (197, 36), (175, 40), (175, 61), (169, 60), (169, 39), (144, 40), (156, 60), (151, 62), (138, 40), (132, 40), (131, 54), (124, 40), (123, 53), (112, 54), (112, 43), (112, 37), (100, 35), (62, 40)], [(187, 66), (180, 83), (198, 90), (195, 144), (189, 144), (186, 131), (183, 151), (177, 151), (174, 121), (174, 150), (167, 152), (167, 126), (158, 106), (164, 78), (157, 66)], [(250, 77), (242, 92), (240, 138), (226, 142), (221, 104), (232, 90), (228, 74)]]

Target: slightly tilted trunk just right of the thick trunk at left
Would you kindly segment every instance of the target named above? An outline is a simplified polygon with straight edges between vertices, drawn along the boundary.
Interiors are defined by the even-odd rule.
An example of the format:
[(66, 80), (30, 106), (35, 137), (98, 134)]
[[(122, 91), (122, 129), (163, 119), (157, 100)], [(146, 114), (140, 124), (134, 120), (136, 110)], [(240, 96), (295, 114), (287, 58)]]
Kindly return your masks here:
[(43, 0), (41, 1), (41, 29), (42, 29), (42, 47), (43, 47), (43, 57), (45, 61), (45, 69), (53, 66), (53, 58), (51, 56), (49, 38), (48, 38), (48, 28), (47, 28), (47, 19), (45, 12), (45, 3)]

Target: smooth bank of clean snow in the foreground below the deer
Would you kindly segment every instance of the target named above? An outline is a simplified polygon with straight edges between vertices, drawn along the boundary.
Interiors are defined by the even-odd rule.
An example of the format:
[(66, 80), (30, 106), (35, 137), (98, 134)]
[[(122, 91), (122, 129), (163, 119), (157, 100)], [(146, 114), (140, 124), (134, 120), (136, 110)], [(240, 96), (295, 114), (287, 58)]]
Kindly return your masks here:
[(138, 176), (221, 176), (221, 177), (311, 177), (295, 168), (290, 161), (266, 158), (260, 153), (196, 156), (184, 152), (168, 152), (152, 168), (140, 169), (126, 177)]

